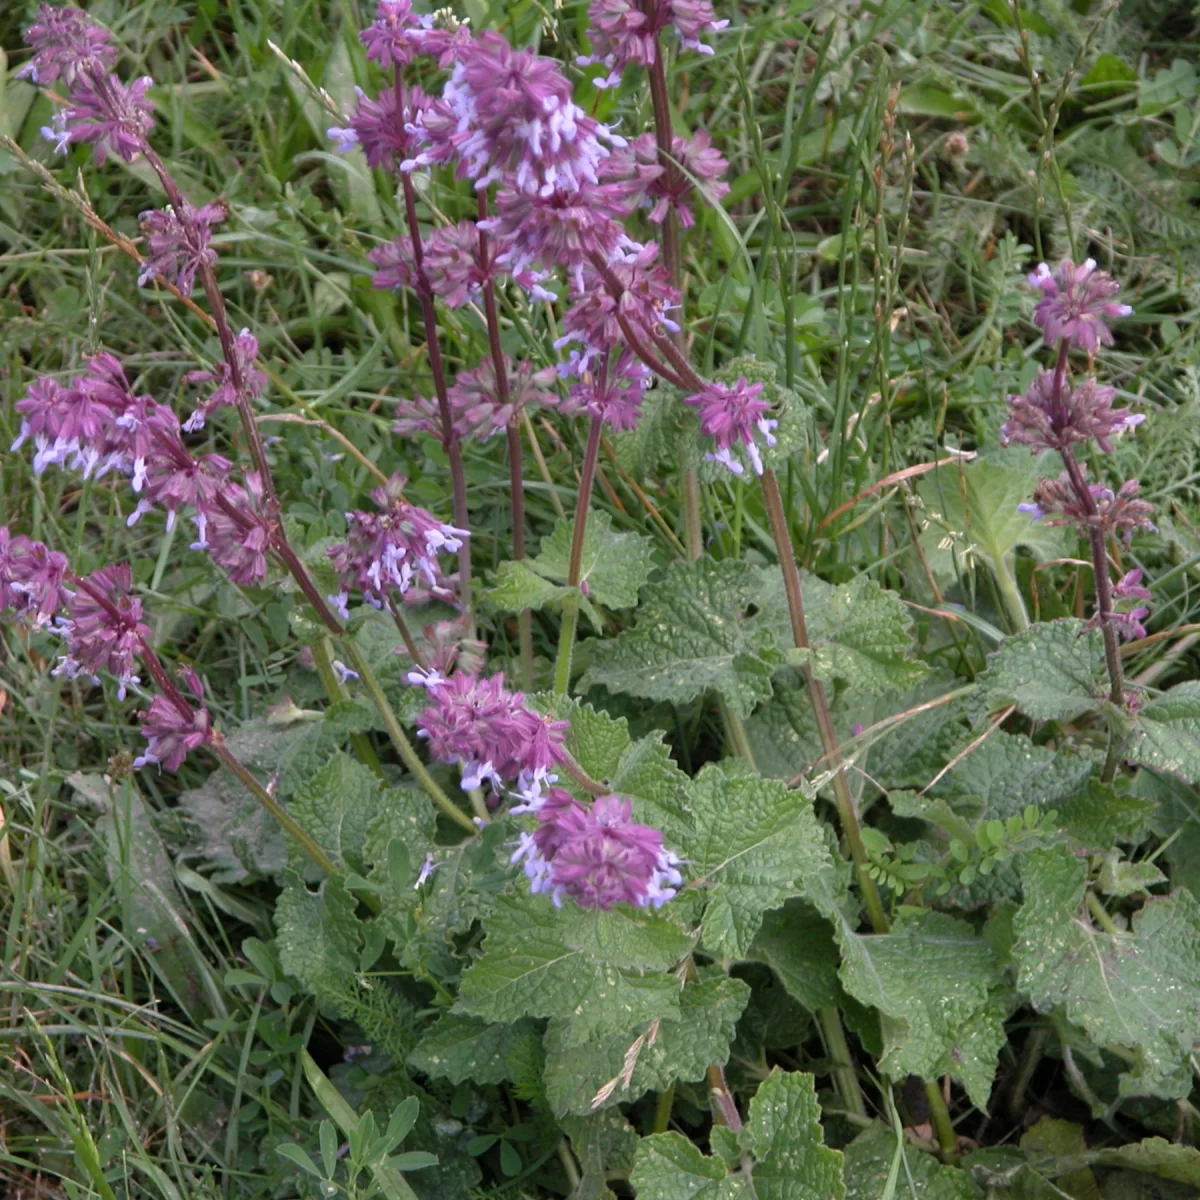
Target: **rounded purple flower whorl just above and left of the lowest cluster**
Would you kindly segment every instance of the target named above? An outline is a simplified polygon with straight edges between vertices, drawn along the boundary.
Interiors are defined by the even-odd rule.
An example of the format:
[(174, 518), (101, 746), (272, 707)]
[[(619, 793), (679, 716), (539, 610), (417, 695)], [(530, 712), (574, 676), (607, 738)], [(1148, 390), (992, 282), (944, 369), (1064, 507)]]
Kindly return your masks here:
[(496, 792), (516, 784), (523, 794), (540, 794), (562, 761), (566, 721), (534, 713), (522, 692), (504, 686), (503, 674), (430, 673), (419, 682), (432, 701), (416, 719), (419, 736), (438, 762), (463, 764), (463, 788), (486, 780)]

